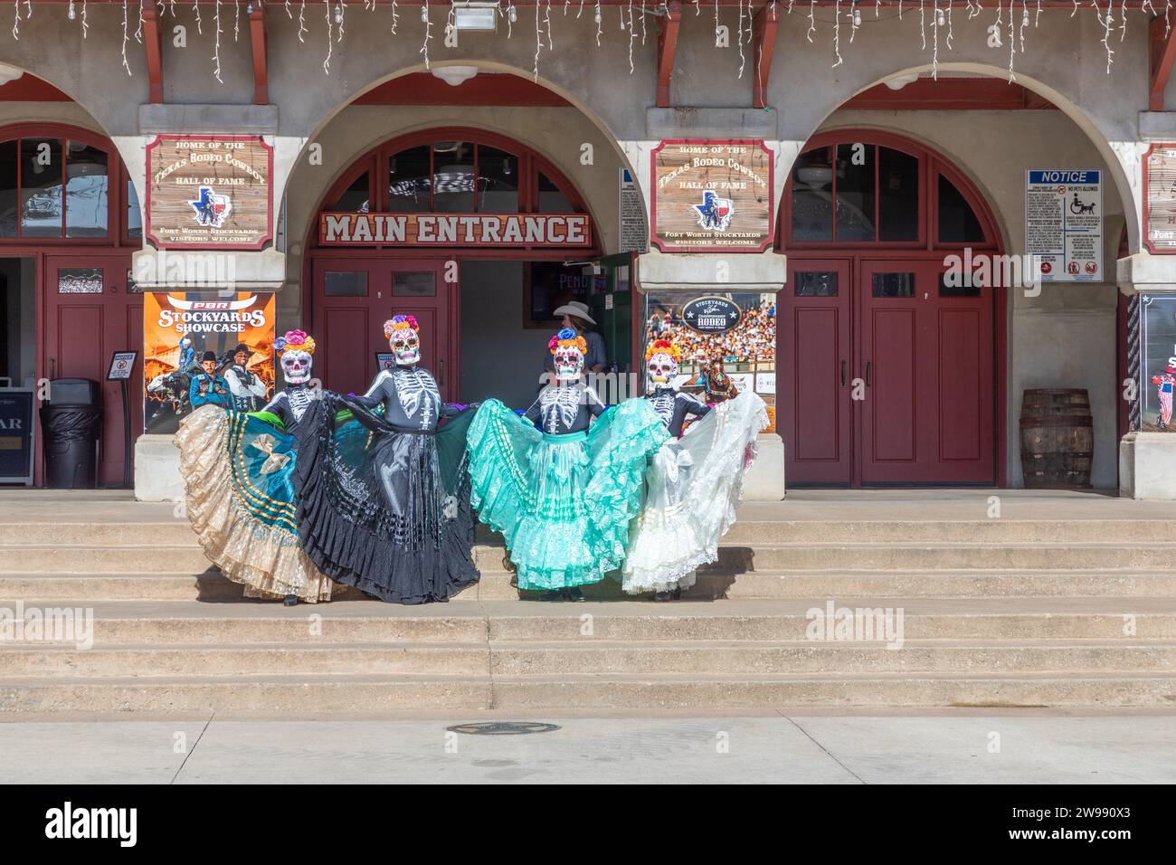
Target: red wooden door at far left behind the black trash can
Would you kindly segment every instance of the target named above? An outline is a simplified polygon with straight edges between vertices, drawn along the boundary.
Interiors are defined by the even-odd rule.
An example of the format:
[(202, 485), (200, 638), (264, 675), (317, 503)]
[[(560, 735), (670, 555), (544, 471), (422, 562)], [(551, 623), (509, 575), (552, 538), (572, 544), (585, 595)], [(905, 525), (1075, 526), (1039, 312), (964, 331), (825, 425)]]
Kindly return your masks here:
[(99, 445), (99, 484), (121, 485), (123, 470), (122, 393), (107, 381), (111, 357), (139, 353), (128, 382), (132, 443), (142, 432), (142, 295), (128, 291), (131, 254), (93, 252), (45, 257), (41, 279), (42, 338), (39, 375), (102, 382), (105, 418)]

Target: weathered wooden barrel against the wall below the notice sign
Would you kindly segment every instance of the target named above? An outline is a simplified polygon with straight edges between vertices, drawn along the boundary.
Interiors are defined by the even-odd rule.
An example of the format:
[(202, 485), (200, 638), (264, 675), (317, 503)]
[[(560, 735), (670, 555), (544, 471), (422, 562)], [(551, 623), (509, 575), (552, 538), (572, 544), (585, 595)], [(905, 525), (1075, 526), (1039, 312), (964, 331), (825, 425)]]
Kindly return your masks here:
[(1090, 487), (1095, 437), (1085, 390), (1041, 388), (1021, 401), (1021, 467), (1030, 490)]

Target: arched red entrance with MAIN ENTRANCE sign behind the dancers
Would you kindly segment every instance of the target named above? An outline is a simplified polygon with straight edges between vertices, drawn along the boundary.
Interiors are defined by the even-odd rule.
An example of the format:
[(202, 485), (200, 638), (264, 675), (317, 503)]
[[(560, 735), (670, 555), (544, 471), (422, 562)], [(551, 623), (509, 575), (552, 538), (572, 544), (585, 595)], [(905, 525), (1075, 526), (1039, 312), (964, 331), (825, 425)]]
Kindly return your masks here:
[[(382, 322), (413, 314), (423, 362), (447, 399), (515, 404), (529, 385), (499, 393), (492, 382), (537, 379), (557, 327), (549, 311), (568, 300), (593, 306), (596, 274), (584, 271), (601, 244), (588, 208), (562, 172), (513, 139), (456, 127), (395, 138), (352, 164), (319, 212), (303, 299), (323, 345), (316, 372), (332, 390), (365, 387), (387, 351)], [(343, 235), (328, 231), (341, 225), (339, 214), (394, 214), (407, 238), (380, 217), (363, 220), (362, 237), (340, 242)], [(528, 234), (537, 225), (530, 219), (512, 239), (517, 217), (532, 214), (548, 217), (546, 233)], [(572, 215), (590, 228), (567, 242)], [(348, 225), (359, 228), (360, 220)], [(626, 320), (626, 338), (628, 331)]]

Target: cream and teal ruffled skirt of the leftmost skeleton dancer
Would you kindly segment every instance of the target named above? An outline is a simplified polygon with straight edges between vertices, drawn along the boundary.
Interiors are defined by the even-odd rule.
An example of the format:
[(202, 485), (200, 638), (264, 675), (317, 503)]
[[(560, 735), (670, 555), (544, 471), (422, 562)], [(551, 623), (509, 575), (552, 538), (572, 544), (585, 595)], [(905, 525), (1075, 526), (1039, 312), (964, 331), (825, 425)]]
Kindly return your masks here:
[(188, 519), (221, 573), (248, 597), (330, 600), (330, 580), (299, 545), (294, 437), (206, 405), (180, 422), (175, 444)]

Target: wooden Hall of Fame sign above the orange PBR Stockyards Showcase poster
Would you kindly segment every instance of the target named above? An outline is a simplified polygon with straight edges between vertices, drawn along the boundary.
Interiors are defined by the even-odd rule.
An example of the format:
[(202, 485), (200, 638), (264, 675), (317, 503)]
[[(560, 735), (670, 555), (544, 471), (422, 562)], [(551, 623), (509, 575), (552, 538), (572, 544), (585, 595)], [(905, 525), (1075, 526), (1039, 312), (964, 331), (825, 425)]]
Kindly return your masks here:
[(261, 135), (159, 135), (147, 145), (147, 239), (168, 249), (260, 249), (273, 239), (273, 167)]

